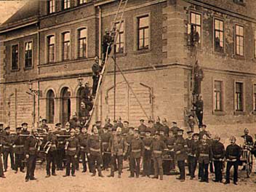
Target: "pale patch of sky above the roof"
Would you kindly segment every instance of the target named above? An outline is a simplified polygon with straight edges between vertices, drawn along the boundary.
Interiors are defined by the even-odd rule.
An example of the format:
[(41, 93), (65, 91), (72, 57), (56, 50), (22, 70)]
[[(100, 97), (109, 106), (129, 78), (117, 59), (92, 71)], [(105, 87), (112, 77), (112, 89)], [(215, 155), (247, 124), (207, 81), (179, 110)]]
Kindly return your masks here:
[[(30, 0), (37, 1), (37, 0)], [(0, 0), (0, 23), (6, 21), (11, 17), (17, 10), (19, 10), (27, 0)]]

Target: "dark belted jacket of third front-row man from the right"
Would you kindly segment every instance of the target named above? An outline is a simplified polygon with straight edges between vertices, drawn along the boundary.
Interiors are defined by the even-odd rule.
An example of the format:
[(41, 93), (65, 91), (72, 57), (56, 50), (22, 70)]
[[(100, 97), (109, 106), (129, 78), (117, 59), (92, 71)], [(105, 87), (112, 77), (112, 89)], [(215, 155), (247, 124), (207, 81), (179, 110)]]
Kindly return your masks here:
[(196, 157), (198, 159), (198, 163), (210, 163), (210, 161), (212, 161), (211, 146), (207, 142), (205, 144), (200, 142), (197, 148)]

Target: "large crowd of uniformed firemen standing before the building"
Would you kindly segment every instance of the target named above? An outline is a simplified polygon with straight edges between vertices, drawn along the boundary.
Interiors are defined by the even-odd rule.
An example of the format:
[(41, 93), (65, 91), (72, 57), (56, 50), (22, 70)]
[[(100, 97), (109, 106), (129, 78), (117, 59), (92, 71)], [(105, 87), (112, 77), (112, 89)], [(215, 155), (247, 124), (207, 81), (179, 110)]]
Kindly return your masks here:
[[(46, 123), (46, 120), (44, 120)], [(44, 129), (47, 134), (40, 138), (38, 130), (33, 129), (31, 135), (28, 132), (28, 124), (21, 124), (22, 127), (16, 129), (16, 134), (10, 134), (10, 127), (3, 130), (3, 124), (0, 124), (0, 143), (4, 156), (4, 169), (2, 158), (0, 158), (0, 177), (5, 178), (4, 172), (7, 171), (7, 159), (10, 154), (11, 168), (18, 172), (24, 172), (24, 160), (26, 160), (27, 174), (26, 181), (35, 180), (34, 172), (36, 166), (36, 156), (40, 148), (44, 149), (46, 154), (46, 178), (56, 176), (56, 170), (63, 170), (66, 167), (66, 174), (63, 177), (71, 175), (75, 177), (75, 170), (79, 170), (79, 159), (82, 159), (83, 171), (92, 172), (92, 176), (103, 177), (102, 169), (108, 170), (110, 165), (110, 174), (108, 177), (114, 177), (118, 171), (118, 178), (121, 178), (123, 170), (123, 160), (128, 159), (131, 178), (138, 178), (140, 175), (141, 159), (143, 161), (142, 177), (150, 177), (151, 170), (154, 170), (152, 179), (163, 180), (163, 157), (168, 156), (170, 162), (167, 169), (175, 170), (177, 161), (180, 181), (185, 181), (185, 160), (188, 164), (190, 179), (195, 178), (196, 166), (199, 164), (198, 179), (200, 182), (209, 182), (208, 167), (214, 164), (214, 171), (210, 166), (211, 172), (215, 172), (214, 182), (222, 182), (222, 170), (224, 160), (227, 161), (226, 181), (229, 183), (229, 171), (234, 166), (234, 184), (237, 184), (238, 161), (241, 156), (241, 148), (236, 145), (236, 138), (230, 138), (230, 145), (224, 148), (220, 142), (220, 137), (206, 131), (206, 125), (202, 125), (199, 133), (188, 131), (188, 137), (184, 139), (184, 130), (172, 122), (169, 128), (166, 119), (160, 123), (157, 117), (156, 122), (148, 121), (148, 126), (144, 120), (140, 119), (140, 125), (137, 128), (129, 126), (128, 121), (114, 121), (112, 125), (110, 119), (106, 121), (104, 127), (101, 122), (93, 125), (92, 133), (87, 133), (88, 127), (81, 127), (80, 124), (67, 123), (65, 130), (62, 129), (61, 123), (55, 124), (56, 131), (46, 124), (41, 125), (39, 131), (43, 133)], [(39, 135), (38, 135), (39, 134)], [(252, 138), (245, 129), (244, 138), (246, 142), (251, 142)], [(15, 161), (14, 155), (15, 154)], [(116, 164), (117, 161), (117, 164)], [(153, 162), (154, 166), (151, 166)], [(153, 168), (152, 168), (153, 167)], [(164, 167), (166, 168), (166, 167)]]

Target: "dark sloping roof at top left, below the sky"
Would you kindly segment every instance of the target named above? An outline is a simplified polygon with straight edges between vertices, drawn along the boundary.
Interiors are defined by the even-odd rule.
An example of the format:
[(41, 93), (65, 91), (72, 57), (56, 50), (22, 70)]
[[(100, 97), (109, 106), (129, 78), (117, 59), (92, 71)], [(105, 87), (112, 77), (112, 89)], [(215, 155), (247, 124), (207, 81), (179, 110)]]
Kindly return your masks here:
[(28, 1), (17, 12), (15, 12), (8, 20), (6, 20), (0, 28), (12, 28), (21, 24), (37, 20), (39, 16), (39, 0)]

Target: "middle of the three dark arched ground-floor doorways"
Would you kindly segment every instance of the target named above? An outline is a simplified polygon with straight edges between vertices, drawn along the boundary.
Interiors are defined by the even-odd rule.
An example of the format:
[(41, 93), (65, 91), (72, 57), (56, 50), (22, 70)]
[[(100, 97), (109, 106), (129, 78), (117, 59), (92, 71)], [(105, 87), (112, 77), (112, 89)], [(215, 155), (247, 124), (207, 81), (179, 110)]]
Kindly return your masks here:
[(61, 123), (65, 125), (69, 119), (71, 113), (71, 102), (70, 102), (70, 89), (63, 87), (60, 92), (60, 114)]

